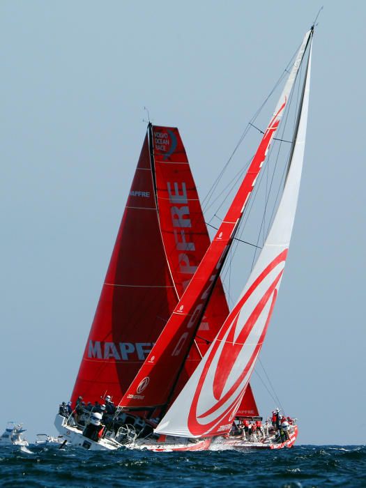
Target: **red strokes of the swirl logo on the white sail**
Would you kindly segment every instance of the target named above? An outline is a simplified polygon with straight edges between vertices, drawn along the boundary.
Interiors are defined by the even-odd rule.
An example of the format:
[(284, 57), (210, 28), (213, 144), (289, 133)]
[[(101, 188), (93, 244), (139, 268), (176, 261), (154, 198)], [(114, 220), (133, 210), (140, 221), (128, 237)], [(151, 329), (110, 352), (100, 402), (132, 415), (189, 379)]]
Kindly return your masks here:
[[(254, 282), (241, 298), (241, 300), (237, 303), (236, 307), (234, 307), (234, 310), (232, 310), (231, 314), (227, 318), (227, 321), (225, 321), (224, 326), (220, 330), (218, 338), (213, 344), (213, 349), (211, 350), (211, 353), (206, 360), (204, 369), (201, 372), (195, 395), (192, 399), (190, 412), (188, 414), (188, 428), (193, 435), (204, 436), (215, 434), (216, 432), (220, 431), (220, 426), (228, 425), (230, 422), (232, 422), (235, 412), (240, 405), (241, 397), (243, 396), (245, 388), (247, 387), (249, 376), (244, 385), (243, 381), (245, 380), (245, 376), (247, 376), (247, 374), (251, 372), (252, 367), (254, 367), (254, 362), (259, 354), (261, 345), (266, 335), (270, 317), (273, 312), (273, 307), (275, 305), (275, 300), (277, 298), (277, 285), (279, 284), (282, 273), (284, 271), (283, 266), (275, 275), (268, 289), (265, 291), (264, 295), (261, 296), (257, 305), (255, 305), (254, 310), (252, 310), (249, 318), (243, 324), (241, 331), (235, 338), (240, 312), (247, 300), (249, 300), (249, 298), (252, 296), (252, 293), (257, 290), (261, 282), (264, 281), (264, 279), (270, 274), (271, 271), (273, 271), (277, 266), (279, 266), (282, 262), (286, 260), (287, 252), (287, 249), (282, 251), (277, 257), (275, 257), (275, 259), (273, 259), (273, 261), (270, 262), (270, 264), (268, 264), (268, 266), (266, 266), (266, 268), (257, 277), (257, 279), (254, 280)], [(239, 354), (243, 349), (247, 337), (250, 335), (251, 331), (257, 323), (257, 320), (259, 319), (259, 316), (261, 315), (261, 312), (263, 312), (264, 307), (266, 307), (268, 303), (270, 303), (268, 316), (266, 318), (264, 328), (261, 331), (259, 340), (254, 347), (254, 350), (252, 351), (252, 354), (247, 361), (247, 364), (243, 367), (243, 369), (241, 369), (241, 372), (238, 374), (235, 381), (233, 381), (233, 384), (230, 386), (227, 392), (224, 393), (224, 387), (227, 384), (227, 380), (233, 370)], [(226, 339), (224, 339), (225, 336), (227, 336)], [(224, 346), (222, 347), (220, 356), (217, 358), (218, 348), (220, 344), (222, 344), (223, 340)], [(217, 365), (215, 366), (215, 373), (213, 374), (212, 383), (212, 393), (215, 402), (213, 402), (212, 406), (209, 409), (207, 409), (203, 413), (198, 414), (197, 406), (199, 403), (199, 398), (201, 396), (202, 388), (204, 387), (204, 383), (207, 379), (208, 372), (210, 372), (214, 359), (218, 361)], [(220, 409), (222, 410), (222, 408), (224, 409), (224, 411), (220, 411)], [(213, 420), (208, 420), (208, 417), (211, 416), (212, 418), (212, 415), (216, 415), (215, 418)]]

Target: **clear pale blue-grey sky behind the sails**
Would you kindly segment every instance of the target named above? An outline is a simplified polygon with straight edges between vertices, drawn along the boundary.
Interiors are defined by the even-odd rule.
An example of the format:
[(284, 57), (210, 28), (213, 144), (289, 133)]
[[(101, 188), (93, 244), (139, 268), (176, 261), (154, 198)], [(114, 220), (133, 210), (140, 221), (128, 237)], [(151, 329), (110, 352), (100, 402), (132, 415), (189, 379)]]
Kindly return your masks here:
[[(298, 211), (261, 363), (298, 443), (365, 443), (363, 1), (0, 3), (0, 429), (55, 433), (144, 107), (179, 128), (204, 197), (322, 5)], [(267, 415), (277, 405), (256, 375), (253, 387)]]

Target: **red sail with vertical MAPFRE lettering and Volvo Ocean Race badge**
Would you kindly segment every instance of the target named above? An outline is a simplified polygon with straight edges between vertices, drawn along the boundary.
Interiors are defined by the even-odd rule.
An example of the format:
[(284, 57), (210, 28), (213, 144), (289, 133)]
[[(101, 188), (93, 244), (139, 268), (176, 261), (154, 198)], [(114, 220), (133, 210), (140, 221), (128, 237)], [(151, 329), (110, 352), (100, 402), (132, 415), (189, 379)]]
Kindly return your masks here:
[[(171, 275), (181, 297), (210, 245), (210, 238), (178, 129), (155, 125), (151, 129), (160, 230)], [(228, 314), (227, 300), (218, 280), (185, 361), (176, 394), (197, 367)]]

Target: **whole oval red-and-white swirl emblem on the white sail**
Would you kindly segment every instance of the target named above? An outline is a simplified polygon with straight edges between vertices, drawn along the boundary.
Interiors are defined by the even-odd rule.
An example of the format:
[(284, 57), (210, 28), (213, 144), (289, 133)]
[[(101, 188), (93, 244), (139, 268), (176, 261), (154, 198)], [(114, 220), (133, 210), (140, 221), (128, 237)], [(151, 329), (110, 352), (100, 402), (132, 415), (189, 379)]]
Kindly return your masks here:
[(287, 250), (257, 277), (239, 300), (203, 365), (188, 414), (195, 436), (231, 426), (257, 360), (284, 271)]

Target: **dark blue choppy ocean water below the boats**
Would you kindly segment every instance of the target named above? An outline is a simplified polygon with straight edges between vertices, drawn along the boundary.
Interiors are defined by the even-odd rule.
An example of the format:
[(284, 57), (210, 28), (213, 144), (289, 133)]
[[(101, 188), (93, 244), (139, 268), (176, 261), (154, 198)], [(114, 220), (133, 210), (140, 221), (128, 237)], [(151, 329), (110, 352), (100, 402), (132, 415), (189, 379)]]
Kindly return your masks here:
[(366, 487), (366, 446), (268, 452), (0, 449), (1, 487)]

